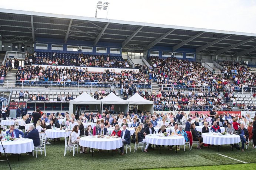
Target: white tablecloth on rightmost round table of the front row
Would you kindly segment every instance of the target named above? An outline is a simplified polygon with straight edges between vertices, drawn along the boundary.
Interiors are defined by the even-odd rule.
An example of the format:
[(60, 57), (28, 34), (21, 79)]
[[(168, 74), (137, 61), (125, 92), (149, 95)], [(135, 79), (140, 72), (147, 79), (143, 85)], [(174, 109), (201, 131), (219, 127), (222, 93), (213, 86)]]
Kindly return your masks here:
[(221, 135), (216, 133), (202, 133), (203, 142), (210, 145), (226, 145), (239, 143), (241, 141), (239, 135)]

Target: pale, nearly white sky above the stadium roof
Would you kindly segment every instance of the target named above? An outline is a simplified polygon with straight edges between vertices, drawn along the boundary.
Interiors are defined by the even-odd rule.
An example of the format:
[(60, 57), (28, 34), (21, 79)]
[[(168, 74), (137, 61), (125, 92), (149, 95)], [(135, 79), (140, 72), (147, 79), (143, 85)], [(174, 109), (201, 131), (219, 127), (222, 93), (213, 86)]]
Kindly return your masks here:
[[(1, 1), (0, 8), (95, 17), (98, 1), (11, 0)], [(109, 19), (256, 34), (256, 0), (107, 0), (107, 2), (110, 3)]]

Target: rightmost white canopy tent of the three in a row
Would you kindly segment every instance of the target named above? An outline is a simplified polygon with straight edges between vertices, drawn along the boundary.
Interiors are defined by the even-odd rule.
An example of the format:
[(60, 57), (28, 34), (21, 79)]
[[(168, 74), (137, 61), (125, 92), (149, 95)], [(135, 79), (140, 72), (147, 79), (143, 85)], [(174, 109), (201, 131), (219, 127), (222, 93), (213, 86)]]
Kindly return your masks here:
[(154, 102), (144, 99), (138, 93), (135, 93), (132, 97), (130, 97), (126, 101), (129, 102), (129, 105), (137, 105), (138, 110), (150, 111), (151, 114), (153, 114), (153, 112), (154, 112)]

